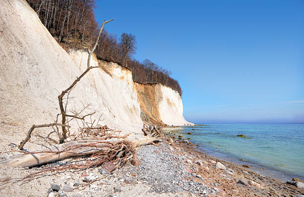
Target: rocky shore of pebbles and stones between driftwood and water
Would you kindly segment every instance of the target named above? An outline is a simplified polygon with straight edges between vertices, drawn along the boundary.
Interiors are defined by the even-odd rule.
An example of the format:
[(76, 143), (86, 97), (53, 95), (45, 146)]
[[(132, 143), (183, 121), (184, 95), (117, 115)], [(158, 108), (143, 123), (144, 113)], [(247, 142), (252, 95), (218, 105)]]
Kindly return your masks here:
[[(165, 137), (158, 146), (138, 148), (137, 160), (112, 173), (111, 164), (86, 172), (45, 173), (27, 182), (14, 178), (45, 167), (73, 163), (70, 158), (30, 169), (1, 169), (1, 196), (26, 197), (300, 197), (304, 189), (268, 178), (246, 167), (221, 161), (195, 146)], [(103, 178), (104, 177), (104, 178)], [(6, 179), (6, 180), (4, 180)], [(93, 183), (89, 183), (94, 181)], [(301, 182), (300, 182), (301, 183)], [(85, 187), (79, 187), (87, 184)]]

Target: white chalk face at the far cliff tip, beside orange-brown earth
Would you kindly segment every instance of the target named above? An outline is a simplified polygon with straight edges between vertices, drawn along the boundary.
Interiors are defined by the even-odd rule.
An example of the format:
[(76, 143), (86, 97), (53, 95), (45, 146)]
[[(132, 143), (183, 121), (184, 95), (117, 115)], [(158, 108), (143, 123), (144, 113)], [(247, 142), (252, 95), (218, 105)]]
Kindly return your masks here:
[(177, 91), (160, 86), (162, 98), (158, 105), (160, 119), (167, 125), (193, 125), (183, 117), (183, 103)]

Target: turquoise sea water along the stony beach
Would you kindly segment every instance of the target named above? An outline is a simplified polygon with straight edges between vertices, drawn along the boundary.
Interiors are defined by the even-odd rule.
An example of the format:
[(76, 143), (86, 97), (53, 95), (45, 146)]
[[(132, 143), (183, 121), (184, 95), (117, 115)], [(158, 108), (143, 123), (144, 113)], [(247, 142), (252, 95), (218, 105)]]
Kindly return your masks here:
[[(181, 127), (176, 136), (199, 144), (207, 154), (242, 164), (282, 181), (304, 179), (304, 124), (231, 123)], [(188, 135), (192, 132), (192, 135)], [(246, 138), (237, 137), (243, 134)], [(227, 157), (229, 156), (229, 157)], [(263, 168), (263, 170), (261, 169)]]

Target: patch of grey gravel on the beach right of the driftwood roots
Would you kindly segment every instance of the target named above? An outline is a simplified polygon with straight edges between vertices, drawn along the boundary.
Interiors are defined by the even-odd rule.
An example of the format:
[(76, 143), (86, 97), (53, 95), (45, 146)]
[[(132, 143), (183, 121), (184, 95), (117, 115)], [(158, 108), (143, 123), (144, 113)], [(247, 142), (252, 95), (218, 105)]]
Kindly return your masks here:
[[(193, 178), (203, 181), (201, 176), (189, 173), (184, 167), (182, 159), (171, 154), (166, 144), (159, 147), (149, 145), (137, 150), (137, 158), (142, 162), (140, 166), (121, 168), (117, 175), (126, 177), (132, 183), (143, 183), (151, 186), (150, 192), (176, 193), (191, 192), (199, 196), (207, 196), (211, 188), (203, 183), (196, 183)], [(164, 151), (165, 150), (165, 151)]]

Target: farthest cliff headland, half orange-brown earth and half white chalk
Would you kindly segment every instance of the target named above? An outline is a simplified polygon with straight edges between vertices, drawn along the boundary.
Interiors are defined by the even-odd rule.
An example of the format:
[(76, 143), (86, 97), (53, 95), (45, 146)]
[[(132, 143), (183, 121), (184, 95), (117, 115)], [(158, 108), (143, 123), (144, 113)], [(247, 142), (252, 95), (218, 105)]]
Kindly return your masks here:
[(143, 121), (160, 125), (192, 125), (183, 117), (183, 103), (178, 92), (161, 84), (135, 85)]

